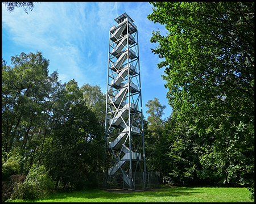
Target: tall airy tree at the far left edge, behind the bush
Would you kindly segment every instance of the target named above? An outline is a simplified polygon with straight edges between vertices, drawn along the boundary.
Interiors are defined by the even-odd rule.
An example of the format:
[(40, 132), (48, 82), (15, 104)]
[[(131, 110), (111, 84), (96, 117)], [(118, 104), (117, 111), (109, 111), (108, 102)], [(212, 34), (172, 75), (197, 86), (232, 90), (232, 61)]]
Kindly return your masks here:
[(11, 185), (5, 199), (42, 157), (57, 84), (57, 73), (48, 75), (48, 65), (41, 52), (11, 57), (10, 66), (2, 59), (2, 182)]

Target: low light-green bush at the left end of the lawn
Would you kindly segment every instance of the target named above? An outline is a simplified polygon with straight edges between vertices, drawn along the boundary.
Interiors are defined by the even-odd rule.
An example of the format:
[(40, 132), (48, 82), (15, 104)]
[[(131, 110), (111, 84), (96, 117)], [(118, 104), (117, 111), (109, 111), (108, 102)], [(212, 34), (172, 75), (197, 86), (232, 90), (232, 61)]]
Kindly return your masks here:
[(54, 188), (52, 180), (44, 166), (30, 169), (23, 183), (18, 185), (18, 190), (11, 196), (13, 199), (41, 199), (47, 196)]

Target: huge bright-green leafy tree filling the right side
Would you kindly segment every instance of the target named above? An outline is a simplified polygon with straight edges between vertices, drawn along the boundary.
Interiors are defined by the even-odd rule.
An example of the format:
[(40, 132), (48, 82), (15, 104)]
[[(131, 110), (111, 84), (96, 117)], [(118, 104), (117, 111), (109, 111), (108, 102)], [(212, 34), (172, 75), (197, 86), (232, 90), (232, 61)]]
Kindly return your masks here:
[[(148, 19), (168, 31), (166, 36), (153, 31), (150, 41), (159, 42), (152, 52), (164, 58), (158, 67), (165, 68), (167, 98), (177, 111), (176, 120), (193, 126), (199, 137), (214, 135), (205, 171), (219, 171), (226, 176), (223, 182), (251, 183), (254, 2), (151, 3)], [(225, 164), (221, 168), (216, 156), (218, 164)]]

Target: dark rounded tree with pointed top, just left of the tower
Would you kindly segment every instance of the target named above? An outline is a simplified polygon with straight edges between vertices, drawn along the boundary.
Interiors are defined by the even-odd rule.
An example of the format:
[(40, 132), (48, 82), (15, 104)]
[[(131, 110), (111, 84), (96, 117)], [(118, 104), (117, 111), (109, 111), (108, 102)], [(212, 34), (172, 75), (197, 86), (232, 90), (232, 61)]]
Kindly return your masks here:
[(104, 128), (82, 100), (73, 79), (59, 90), (53, 108), (54, 125), (44, 147), (43, 164), (55, 181), (55, 188), (81, 189), (104, 159)]

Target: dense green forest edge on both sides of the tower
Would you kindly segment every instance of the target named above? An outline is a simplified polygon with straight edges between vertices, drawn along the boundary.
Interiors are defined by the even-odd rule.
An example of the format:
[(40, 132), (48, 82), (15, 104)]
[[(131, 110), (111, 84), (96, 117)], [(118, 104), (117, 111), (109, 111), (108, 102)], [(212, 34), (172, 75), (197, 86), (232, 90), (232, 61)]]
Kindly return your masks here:
[[(254, 2), (150, 2), (171, 116), (147, 101), (147, 171), (163, 184), (245, 186), (254, 199)], [(2, 202), (98, 188), (106, 95), (49, 73), (42, 52), (2, 59)], [(144, 107), (143, 107), (144, 108)], [(96, 151), (97, 150), (97, 151)]]

